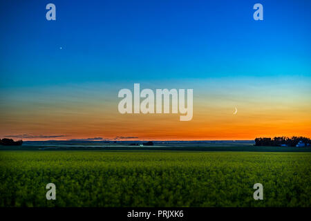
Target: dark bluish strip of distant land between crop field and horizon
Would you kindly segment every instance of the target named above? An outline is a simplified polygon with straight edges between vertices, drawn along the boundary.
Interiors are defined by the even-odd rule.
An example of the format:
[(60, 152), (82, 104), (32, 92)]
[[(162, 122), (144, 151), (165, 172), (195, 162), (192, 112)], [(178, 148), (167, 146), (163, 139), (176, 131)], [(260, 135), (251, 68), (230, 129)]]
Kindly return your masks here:
[(254, 146), (249, 143), (169, 143), (155, 146), (130, 146), (129, 143), (73, 143), (23, 144), (23, 146), (0, 146), (0, 151), (247, 151), (247, 152), (311, 152), (311, 147)]

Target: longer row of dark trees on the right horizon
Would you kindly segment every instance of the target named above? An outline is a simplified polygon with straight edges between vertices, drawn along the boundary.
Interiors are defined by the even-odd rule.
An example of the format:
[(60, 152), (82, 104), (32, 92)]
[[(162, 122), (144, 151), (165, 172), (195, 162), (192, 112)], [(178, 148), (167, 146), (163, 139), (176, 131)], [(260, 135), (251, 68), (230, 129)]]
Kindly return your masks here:
[(282, 144), (286, 146), (296, 146), (300, 141), (302, 141), (305, 146), (311, 144), (311, 140), (308, 137), (258, 137), (255, 139), (255, 146), (281, 146)]

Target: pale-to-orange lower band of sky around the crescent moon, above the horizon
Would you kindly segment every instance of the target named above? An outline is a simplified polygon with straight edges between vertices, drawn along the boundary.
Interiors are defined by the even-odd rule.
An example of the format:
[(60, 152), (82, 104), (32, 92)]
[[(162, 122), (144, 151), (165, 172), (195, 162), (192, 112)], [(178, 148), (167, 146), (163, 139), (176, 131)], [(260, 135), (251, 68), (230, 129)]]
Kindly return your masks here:
[[(215, 84), (218, 85), (218, 84)], [(229, 84), (225, 84), (226, 86)], [(207, 86), (202, 84), (201, 87)], [(92, 89), (95, 88), (95, 89)], [(28, 99), (6, 98), (0, 109), (0, 138), (15, 140), (71, 140), (102, 137), (138, 137), (130, 140), (254, 140), (256, 137), (311, 137), (308, 93), (292, 93), (271, 86), (263, 90), (238, 86), (211, 91), (197, 88), (194, 115), (180, 122), (180, 114), (120, 114), (117, 90), (109, 93), (61, 88), (43, 90)], [(250, 91), (249, 93), (244, 92)], [(86, 91), (89, 93), (86, 93)], [(111, 91), (115, 91), (112, 93)], [(234, 91), (234, 92), (232, 92)], [(110, 93), (111, 92), (111, 93)], [(252, 93), (251, 93), (252, 92)], [(53, 95), (53, 96), (52, 96)], [(102, 97), (100, 97), (102, 95)], [(11, 95), (12, 96), (12, 95)], [(15, 100), (16, 99), (16, 100)], [(10, 103), (10, 102), (11, 103)], [(235, 107), (238, 109), (234, 115)], [(57, 137), (62, 135), (61, 137)], [(126, 138), (118, 138), (127, 140)]]

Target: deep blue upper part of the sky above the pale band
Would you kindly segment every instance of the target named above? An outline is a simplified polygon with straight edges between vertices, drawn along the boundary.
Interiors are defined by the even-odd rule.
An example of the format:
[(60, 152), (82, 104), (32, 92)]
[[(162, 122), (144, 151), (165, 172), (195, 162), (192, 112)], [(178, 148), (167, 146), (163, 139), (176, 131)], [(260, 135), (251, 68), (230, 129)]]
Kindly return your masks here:
[(0, 86), (310, 77), (311, 2), (258, 2), (1, 1)]

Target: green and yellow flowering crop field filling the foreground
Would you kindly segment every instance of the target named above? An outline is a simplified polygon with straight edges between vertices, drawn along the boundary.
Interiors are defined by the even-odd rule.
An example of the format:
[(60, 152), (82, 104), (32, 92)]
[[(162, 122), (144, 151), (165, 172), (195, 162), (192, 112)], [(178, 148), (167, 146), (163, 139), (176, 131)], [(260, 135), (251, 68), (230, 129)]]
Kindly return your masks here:
[(0, 206), (311, 206), (311, 153), (0, 151), (0, 182)]

